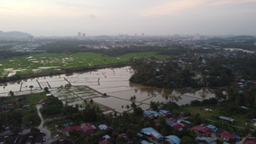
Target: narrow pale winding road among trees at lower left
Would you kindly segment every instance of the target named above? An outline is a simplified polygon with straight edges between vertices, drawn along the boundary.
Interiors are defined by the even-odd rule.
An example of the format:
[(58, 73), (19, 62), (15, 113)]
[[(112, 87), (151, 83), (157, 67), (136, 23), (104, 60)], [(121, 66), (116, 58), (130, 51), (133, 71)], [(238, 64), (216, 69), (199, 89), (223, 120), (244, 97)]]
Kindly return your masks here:
[(50, 131), (47, 130), (47, 128), (44, 128), (44, 118), (42, 117), (41, 112), (39, 111), (40, 108), (42, 107), (42, 105), (37, 105), (37, 109), (38, 109), (38, 116), (41, 119), (41, 124), (38, 126), (38, 129), (43, 131), (45, 134), (45, 144), (50, 144), (51, 143), (51, 137), (50, 137)]

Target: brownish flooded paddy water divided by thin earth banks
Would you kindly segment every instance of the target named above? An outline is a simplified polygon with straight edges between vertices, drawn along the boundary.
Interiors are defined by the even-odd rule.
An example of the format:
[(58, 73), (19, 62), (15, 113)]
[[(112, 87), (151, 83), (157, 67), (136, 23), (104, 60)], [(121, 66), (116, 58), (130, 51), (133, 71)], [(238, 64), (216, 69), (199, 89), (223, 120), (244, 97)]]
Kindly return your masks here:
[[(0, 86), (0, 96), (7, 96), (9, 90), (15, 95), (27, 94), (32, 91), (42, 91), (44, 87), (57, 95), (61, 101), (68, 104), (80, 104), (84, 99), (93, 99), (106, 107), (111, 107), (118, 112), (125, 111), (126, 105), (131, 105), (130, 98), (136, 95), (137, 105), (143, 110), (149, 108), (150, 101), (174, 101), (178, 105), (189, 103), (193, 100), (203, 100), (214, 97), (211, 89), (158, 89), (131, 84), (129, 78), (133, 74), (130, 66), (121, 68), (106, 68), (93, 72), (73, 73), (72, 75), (62, 74), (54, 77), (40, 77), (20, 81), (19, 83), (9, 83)], [(72, 84), (73, 87), (87, 89), (69, 89), (67, 92), (60, 92), (60, 87)], [(32, 85), (32, 86), (31, 86)], [(73, 88), (72, 87), (72, 88)], [(92, 91), (91, 91), (92, 90)], [(95, 91), (96, 90), (96, 91)], [(93, 95), (90, 95), (92, 94)], [(108, 97), (103, 97), (106, 93)]]

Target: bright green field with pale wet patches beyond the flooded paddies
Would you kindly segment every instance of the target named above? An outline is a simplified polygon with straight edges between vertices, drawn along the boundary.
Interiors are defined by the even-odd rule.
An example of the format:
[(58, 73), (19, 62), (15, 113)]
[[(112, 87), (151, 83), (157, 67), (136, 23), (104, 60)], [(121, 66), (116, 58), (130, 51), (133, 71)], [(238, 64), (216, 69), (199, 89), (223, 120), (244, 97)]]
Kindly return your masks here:
[(50, 72), (61, 68), (73, 68), (80, 66), (98, 66), (127, 62), (130, 58), (150, 58), (167, 59), (168, 55), (155, 55), (154, 53), (131, 53), (119, 55), (117, 57), (102, 56), (97, 53), (76, 53), (76, 54), (38, 54), (12, 57), (0, 60), (0, 75), (8, 76), (10, 73), (30, 74), (37, 72)]

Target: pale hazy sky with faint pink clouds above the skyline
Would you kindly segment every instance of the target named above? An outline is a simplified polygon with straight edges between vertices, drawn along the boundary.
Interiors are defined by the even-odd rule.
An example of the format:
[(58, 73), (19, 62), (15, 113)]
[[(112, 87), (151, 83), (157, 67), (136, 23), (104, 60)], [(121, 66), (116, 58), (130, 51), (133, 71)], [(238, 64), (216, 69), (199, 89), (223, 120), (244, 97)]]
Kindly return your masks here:
[(0, 31), (256, 35), (255, 15), (256, 0), (0, 0)]

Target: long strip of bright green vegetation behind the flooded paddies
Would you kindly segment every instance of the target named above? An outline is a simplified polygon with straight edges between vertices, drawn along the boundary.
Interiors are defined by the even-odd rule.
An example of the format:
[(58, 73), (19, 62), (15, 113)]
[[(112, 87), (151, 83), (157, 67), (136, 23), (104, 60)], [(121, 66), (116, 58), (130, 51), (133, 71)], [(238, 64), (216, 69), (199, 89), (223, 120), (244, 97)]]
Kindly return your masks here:
[[(63, 51), (62, 51), (63, 52)], [(88, 70), (91, 68), (96, 68), (96, 66), (111, 66), (114, 65), (124, 65), (124, 63), (128, 62), (130, 58), (134, 57), (170, 57), (166, 55), (155, 55), (154, 53), (147, 54), (125, 54), (119, 55), (119, 57), (110, 57), (110, 56), (102, 56), (97, 53), (76, 53), (73, 55), (69, 54), (38, 54), (38, 55), (30, 55), (30, 56), (20, 56), (20, 57), (12, 57), (5, 60), (0, 60), (0, 63), (3, 65), (2, 67), (5, 69), (14, 68), (18, 69), (26, 69), (16, 73), (16, 75), (12, 77), (7, 77), (8, 72), (0, 77), (0, 82), (7, 82), (11, 80), (17, 80), (21, 77), (31, 77), (32, 75), (49, 75), (52, 73), (60, 74), (64, 72), (79, 72)], [(40, 69), (39, 67), (47, 66), (49, 69)], [(60, 70), (61, 68), (61, 70)], [(37, 70), (37, 71), (35, 71)], [(0, 73), (3, 73), (3, 69), (0, 69)], [(39, 73), (37, 75), (37, 73)], [(29, 75), (27, 75), (29, 74)], [(5, 77), (4, 77), (5, 76)]]

